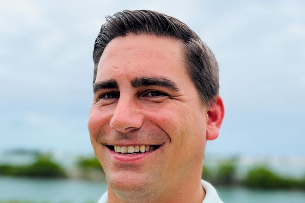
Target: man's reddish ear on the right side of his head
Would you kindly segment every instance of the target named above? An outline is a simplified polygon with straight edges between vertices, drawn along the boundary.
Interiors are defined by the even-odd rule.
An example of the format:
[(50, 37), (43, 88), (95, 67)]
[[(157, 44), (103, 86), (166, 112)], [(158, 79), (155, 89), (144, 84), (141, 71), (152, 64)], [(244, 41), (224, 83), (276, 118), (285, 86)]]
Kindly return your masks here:
[(215, 96), (207, 108), (206, 139), (214, 140), (218, 137), (219, 128), (225, 115), (225, 108), (220, 96)]

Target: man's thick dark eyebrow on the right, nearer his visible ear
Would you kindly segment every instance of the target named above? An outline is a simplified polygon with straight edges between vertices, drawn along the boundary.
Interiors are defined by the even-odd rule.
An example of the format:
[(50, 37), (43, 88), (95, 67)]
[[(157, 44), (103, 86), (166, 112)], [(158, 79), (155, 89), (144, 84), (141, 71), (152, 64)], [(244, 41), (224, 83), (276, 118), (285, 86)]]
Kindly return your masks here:
[(136, 77), (130, 81), (131, 85), (135, 88), (146, 86), (160, 86), (171, 89), (173, 91), (179, 91), (179, 86), (165, 77)]

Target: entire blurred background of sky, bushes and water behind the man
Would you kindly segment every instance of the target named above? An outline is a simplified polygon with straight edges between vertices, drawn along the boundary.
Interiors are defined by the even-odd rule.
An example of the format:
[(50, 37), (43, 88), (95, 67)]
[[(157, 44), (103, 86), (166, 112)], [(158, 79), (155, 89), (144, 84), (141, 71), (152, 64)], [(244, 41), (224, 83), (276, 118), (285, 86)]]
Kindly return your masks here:
[(305, 2), (0, 0), (0, 202), (97, 202), (87, 129), (107, 15), (149, 9), (214, 51), (226, 115), (203, 178), (224, 202), (305, 202)]

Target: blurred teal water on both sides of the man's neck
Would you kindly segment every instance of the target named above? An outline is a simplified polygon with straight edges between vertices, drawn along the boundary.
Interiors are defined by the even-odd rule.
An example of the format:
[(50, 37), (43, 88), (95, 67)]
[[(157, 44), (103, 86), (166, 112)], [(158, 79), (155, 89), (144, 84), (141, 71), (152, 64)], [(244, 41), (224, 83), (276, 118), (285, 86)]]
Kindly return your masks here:
[[(28, 179), (0, 177), (0, 202), (32, 201), (47, 203), (97, 202), (107, 190), (103, 182), (71, 179)], [(219, 187), (217, 191), (226, 203), (304, 203), (304, 191), (250, 190), (245, 188)]]

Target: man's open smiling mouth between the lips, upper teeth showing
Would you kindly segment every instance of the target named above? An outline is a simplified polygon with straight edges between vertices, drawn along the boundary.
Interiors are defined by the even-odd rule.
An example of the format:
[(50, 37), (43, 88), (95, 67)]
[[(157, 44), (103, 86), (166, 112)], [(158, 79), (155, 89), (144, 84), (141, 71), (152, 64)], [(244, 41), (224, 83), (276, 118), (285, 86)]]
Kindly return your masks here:
[(137, 145), (137, 146), (112, 146), (106, 145), (108, 149), (119, 154), (140, 154), (158, 149), (161, 145)]

